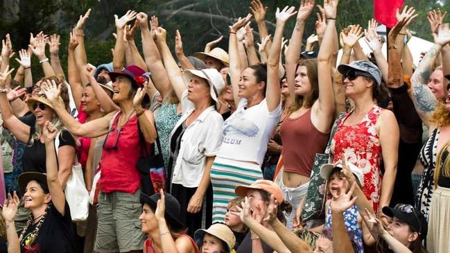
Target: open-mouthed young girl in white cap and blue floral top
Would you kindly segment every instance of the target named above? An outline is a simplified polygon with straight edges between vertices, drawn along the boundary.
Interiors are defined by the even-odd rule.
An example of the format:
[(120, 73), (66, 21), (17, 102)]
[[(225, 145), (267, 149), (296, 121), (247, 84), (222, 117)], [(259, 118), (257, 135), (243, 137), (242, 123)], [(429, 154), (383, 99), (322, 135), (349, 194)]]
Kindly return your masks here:
[[(347, 164), (349, 170), (356, 176), (356, 182), (361, 188), (363, 186), (363, 171), (353, 164)], [(331, 195), (331, 199), (327, 200), (325, 204), (325, 227), (324, 229), (331, 232), (331, 209), (330, 204), (334, 200), (338, 200), (345, 194), (351, 184), (347, 180), (347, 177), (343, 173), (343, 165), (338, 163), (325, 164), (320, 168), (320, 177), (328, 182), (328, 193)], [(363, 218), (358, 212), (358, 207), (354, 204), (352, 207), (344, 212), (345, 228), (347, 234), (351, 238), (352, 245), (355, 252), (363, 253), (363, 241), (366, 245), (372, 245), (375, 243), (374, 238), (371, 236), (370, 231), (363, 224)]]

